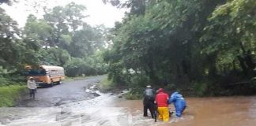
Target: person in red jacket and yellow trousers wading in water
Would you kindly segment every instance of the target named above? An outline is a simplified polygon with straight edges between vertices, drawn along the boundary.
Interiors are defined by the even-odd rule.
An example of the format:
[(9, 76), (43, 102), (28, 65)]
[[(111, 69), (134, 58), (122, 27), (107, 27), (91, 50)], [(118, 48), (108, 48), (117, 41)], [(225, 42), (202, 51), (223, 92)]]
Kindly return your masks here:
[(164, 93), (164, 89), (160, 88), (156, 95), (156, 105), (158, 111), (158, 119), (168, 121), (169, 120), (169, 109), (168, 109), (168, 94)]

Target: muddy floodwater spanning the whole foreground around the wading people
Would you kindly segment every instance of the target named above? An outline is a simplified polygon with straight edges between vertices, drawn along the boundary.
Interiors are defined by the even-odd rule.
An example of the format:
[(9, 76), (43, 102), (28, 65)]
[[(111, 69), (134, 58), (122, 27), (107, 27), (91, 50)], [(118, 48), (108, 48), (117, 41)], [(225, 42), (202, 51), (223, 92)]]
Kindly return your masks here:
[[(168, 123), (142, 117), (142, 101), (103, 95), (60, 107), (0, 109), (17, 117), (2, 117), (2, 125), (48, 126), (254, 126), (256, 97), (186, 98), (183, 117), (173, 115)], [(174, 106), (169, 106), (174, 111)], [(20, 115), (19, 115), (20, 114)], [(10, 114), (11, 115), (11, 114)], [(0, 121), (1, 122), (1, 121)]]

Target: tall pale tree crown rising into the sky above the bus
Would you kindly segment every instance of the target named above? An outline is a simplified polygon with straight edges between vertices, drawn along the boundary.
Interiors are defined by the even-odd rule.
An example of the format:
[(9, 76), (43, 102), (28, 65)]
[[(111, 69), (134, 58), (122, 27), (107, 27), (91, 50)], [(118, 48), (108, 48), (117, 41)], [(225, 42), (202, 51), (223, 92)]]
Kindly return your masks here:
[(83, 13), (85, 9), (85, 6), (77, 5), (74, 2), (64, 7), (55, 6), (53, 9), (45, 9), (43, 17), (55, 29), (51, 39), (55, 45), (68, 46), (63, 45), (60, 40), (63, 39), (63, 35), (72, 36), (77, 28), (82, 26), (82, 20), (86, 17)]

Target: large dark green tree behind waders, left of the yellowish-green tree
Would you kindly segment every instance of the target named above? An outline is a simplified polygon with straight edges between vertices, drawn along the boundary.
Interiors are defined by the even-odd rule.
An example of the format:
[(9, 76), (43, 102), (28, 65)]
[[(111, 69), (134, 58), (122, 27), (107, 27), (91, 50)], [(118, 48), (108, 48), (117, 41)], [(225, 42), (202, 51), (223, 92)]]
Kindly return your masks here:
[[(161, 0), (146, 2), (144, 14), (128, 13), (129, 17), (111, 30), (114, 44), (104, 54), (105, 61), (110, 65), (110, 76), (116, 81), (126, 76), (126, 83), (138, 82), (131, 81), (136, 79), (134, 75), (127, 75), (129, 69), (133, 69), (136, 76), (149, 76), (151, 83), (156, 85), (175, 83), (175, 88), (186, 91), (196, 91), (197, 88), (202, 89), (201, 92), (213, 91), (217, 86), (208, 83), (209, 80), (218, 81), (223, 74), (216, 66), (219, 60), (217, 53), (220, 53), (221, 48), (216, 47), (216, 51), (205, 53), (205, 46), (213, 41), (200, 42), (209, 36), (215, 38), (218, 30), (220, 35), (225, 35), (221, 32), (223, 29), (213, 27), (213, 21), (209, 20), (216, 6), (224, 3), (223, 0)], [(248, 10), (253, 10), (254, 5), (250, 5)], [(228, 18), (226, 21), (229, 21), (227, 24), (235, 22)], [(221, 24), (223, 21), (216, 20), (216, 23)], [(224, 25), (222, 28), (229, 31)], [(213, 35), (205, 35), (208, 27), (213, 28), (210, 32)], [(253, 27), (250, 25), (250, 28)], [(216, 43), (209, 45), (209, 49), (213, 46)], [(225, 60), (232, 62), (230, 58)], [(143, 86), (145, 83), (149, 82), (137, 85)]]

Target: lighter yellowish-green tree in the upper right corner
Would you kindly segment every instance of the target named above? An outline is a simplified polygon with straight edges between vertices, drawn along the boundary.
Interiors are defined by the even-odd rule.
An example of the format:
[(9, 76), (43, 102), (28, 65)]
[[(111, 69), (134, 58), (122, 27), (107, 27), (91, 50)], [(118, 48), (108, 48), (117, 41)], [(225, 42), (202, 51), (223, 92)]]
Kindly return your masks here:
[(215, 63), (220, 72), (235, 68), (243, 69), (243, 72), (254, 69), (250, 59), (243, 57), (249, 57), (255, 51), (255, 6), (254, 0), (228, 1), (209, 17), (201, 42), (204, 53), (216, 55)]

